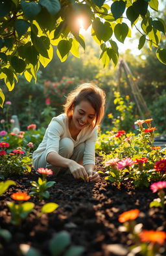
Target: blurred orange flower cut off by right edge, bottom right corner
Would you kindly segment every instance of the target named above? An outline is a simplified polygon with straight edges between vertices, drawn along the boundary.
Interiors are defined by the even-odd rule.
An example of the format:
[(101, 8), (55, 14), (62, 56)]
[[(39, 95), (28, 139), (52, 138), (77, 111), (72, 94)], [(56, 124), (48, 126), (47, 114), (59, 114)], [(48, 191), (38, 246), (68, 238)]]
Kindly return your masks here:
[(143, 230), (139, 233), (139, 237), (142, 242), (152, 242), (163, 244), (166, 239), (166, 232), (163, 231), (154, 231), (154, 230)]

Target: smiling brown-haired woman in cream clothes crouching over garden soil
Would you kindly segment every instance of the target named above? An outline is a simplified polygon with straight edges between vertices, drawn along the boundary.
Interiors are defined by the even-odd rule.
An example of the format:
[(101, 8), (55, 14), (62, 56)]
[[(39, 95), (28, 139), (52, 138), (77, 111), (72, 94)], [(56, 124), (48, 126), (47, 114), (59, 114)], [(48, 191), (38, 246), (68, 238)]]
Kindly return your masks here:
[(70, 92), (64, 113), (53, 117), (42, 143), (34, 151), (34, 169), (48, 167), (56, 174), (71, 173), (74, 178), (99, 181), (99, 173), (94, 171), (95, 141), (104, 104), (104, 91), (91, 83)]

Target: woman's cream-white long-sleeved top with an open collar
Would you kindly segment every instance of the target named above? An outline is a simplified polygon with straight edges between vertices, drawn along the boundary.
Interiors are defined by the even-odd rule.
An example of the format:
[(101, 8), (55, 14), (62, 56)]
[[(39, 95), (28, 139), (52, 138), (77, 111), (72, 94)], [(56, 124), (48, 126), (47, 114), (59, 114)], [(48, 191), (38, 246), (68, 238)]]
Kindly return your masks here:
[(67, 115), (61, 114), (57, 117), (53, 117), (43, 140), (33, 153), (33, 162), (34, 165), (38, 163), (40, 156), (45, 153), (45, 161), (47, 159), (47, 154), (49, 152), (57, 152), (59, 150), (60, 139), (68, 137), (73, 143), (74, 147), (77, 147), (80, 143), (85, 143), (85, 150), (83, 156), (83, 165), (86, 164), (95, 164), (95, 142), (97, 139), (97, 126), (91, 130), (88, 126), (83, 128), (77, 136), (77, 139), (73, 139), (69, 132), (69, 119)]

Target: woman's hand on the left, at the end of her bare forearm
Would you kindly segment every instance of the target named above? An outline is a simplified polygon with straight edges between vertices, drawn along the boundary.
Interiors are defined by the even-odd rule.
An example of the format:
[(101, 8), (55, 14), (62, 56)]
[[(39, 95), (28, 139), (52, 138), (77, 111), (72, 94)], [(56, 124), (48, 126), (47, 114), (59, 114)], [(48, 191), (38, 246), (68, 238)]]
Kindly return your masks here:
[(85, 180), (88, 180), (88, 173), (86, 172), (86, 169), (84, 166), (78, 164), (74, 160), (71, 160), (69, 162), (69, 170), (71, 171), (71, 174), (74, 178), (80, 178), (83, 177)]

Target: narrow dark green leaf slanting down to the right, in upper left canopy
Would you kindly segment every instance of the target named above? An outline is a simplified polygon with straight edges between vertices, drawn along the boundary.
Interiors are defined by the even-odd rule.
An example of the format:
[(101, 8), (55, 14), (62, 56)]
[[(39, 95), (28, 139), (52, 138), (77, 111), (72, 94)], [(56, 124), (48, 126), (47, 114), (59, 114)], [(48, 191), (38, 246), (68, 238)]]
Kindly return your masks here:
[[(41, 36), (42, 37), (42, 36)], [(49, 55), (47, 53), (47, 48), (45, 46), (45, 43), (43, 42), (42, 38), (39, 36), (36, 36), (32, 31), (31, 31), (31, 39), (32, 43), (34, 44), (34, 47), (36, 50), (45, 58), (49, 58)]]

